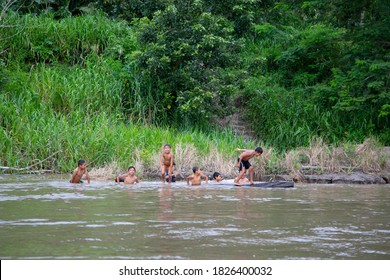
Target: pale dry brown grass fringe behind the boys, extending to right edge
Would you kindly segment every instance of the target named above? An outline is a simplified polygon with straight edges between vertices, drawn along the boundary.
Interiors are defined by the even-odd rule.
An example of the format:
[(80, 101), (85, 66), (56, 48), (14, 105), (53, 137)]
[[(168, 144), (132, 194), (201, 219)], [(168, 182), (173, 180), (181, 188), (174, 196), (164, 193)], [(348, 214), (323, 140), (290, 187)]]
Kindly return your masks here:
[[(238, 174), (236, 155), (227, 155), (210, 146), (209, 154), (201, 155), (192, 144), (178, 143), (172, 152), (175, 155), (176, 169), (179, 178), (192, 174), (192, 168), (199, 166), (205, 175), (211, 176), (220, 172), (224, 178), (234, 178)], [(150, 158), (142, 158), (138, 149), (132, 160), (140, 178), (159, 178), (160, 153)], [(265, 148), (262, 156), (252, 159), (254, 178), (261, 180), (266, 175), (288, 174), (295, 181), (302, 181), (304, 174), (351, 173), (361, 171), (378, 173), (386, 168), (388, 155), (381, 153), (381, 148), (373, 139), (367, 139), (360, 145), (349, 143), (340, 146), (330, 146), (321, 139), (312, 141), (309, 147), (288, 151), (284, 156), (275, 154), (272, 148)], [(281, 174), (275, 174), (279, 170)], [(98, 179), (113, 178), (119, 173), (126, 172), (116, 162), (90, 171), (91, 177)], [(272, 173), (272, 174), (267, 174)]]

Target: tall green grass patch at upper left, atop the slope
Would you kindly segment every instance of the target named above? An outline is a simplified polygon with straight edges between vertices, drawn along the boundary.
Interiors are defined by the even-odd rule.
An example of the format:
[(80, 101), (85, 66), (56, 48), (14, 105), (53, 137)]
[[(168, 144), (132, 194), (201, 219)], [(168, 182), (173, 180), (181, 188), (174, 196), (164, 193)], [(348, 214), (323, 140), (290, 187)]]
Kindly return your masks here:
[(19, 16), (8, 11), (0, 27), (2, 56), (8, 63), (84, 63), (91, 55), (120, 58), (135, 48), (134, 34), (125, 22), (102, 14), (54, 20), (53, 15)]

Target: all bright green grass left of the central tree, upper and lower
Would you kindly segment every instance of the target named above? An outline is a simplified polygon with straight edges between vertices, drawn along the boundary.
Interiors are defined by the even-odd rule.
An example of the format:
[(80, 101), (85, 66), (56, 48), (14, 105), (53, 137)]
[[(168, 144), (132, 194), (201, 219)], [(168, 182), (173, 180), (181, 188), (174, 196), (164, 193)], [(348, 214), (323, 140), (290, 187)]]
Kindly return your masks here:
[[(153, 169), (156, 162), (151, 161), (165, 142), (196, 143), (202, 153), (213, 145), (221, 153), (228, 153), (231, 144), (243, 145), (228, 132), (206, 135), (193, 129), (178, 134), (132, 121), (135, 115), (127, 108), (134, 111), (143, 101), (133, 99), (140, 98), (139, 81), (120, 60), (136, 45), (132, 29), (123, 22), (99, 14), (54, 20), (10, 13), (8, 19), (17, 30), (21, 24), (44, 30), (8, 28), (3, 33), (12, 37), (2, 41), (5, 50), (12, 50), (2, 60), (7, 66), (2, 68), (0, 95), (3, 165), (27, 166), (60, 152), (39, 167), (69, 171), (78, 158), (92, 166), (112, 161), (127, 166), (142, 157), (145, 168)], [(134, 89), (128, 93), (130, 87)], [(144, 113), (140, 109), (137, 116)]]

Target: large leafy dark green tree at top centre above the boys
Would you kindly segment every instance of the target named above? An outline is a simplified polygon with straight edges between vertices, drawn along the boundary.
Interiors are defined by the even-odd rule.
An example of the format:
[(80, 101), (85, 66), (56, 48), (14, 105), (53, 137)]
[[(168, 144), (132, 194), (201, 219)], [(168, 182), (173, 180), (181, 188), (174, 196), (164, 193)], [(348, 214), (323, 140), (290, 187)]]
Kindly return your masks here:
[(139, 69), (153, 77), (162, 108), (178, 123), (199, 124), (223, 114), (238, 86), (224, 70), (239, 65), (234, 28), (205, 10), (199, 0), (177, 1), (136, 25)]

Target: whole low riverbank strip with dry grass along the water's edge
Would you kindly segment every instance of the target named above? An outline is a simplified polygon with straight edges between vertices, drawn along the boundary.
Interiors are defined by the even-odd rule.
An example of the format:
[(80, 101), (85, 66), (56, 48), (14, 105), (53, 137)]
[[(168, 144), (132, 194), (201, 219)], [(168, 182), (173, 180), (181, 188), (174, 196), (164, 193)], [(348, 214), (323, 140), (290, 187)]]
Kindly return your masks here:
[[(277, 153), (272, 147), (264, 147), (259, 159), (252, 159), (254, 180), (275, 181), (292, 180), (309, 184), (389, 184), (390, 147), (380, 147), (373, 139), (363, 144), (346, 143), (329, 146), (317, 139), (309, 147)], [(225, 147), (226, 148), (226, 147)], [(234, 150), (233, 148), (231, 150)], [(224, 153), (215, 146), (201, 151), (191, 144), (174, 143), (173, 153), (177, 168), (177, 179), (184, 180), (192, 174), (193, 166), (199, 166), (204, 174), (212, 176), (219, 172), (225, 179), (237, 176), (235, 159), (238, 153)], [(57, 155), (56, 155), (57, 156)], [(51, 158), (50, 158), (51, 159)], [(89, 163), (89, 160), (87, 159)], [(45, 162), (27, 168), (2, 169), (5, 173), (16, 174), (69, 174), (41, 168)], [(118, 174), (126, 172), (130, 165), (135, 166), (136, 175), (141, 180), (161, 180), (159, 153), (146, 154), (135, 149), (132, 158), (123, 162), (110, 161), (96, 166), (89, 163), (89, 173), (93, 180), (113, 180)]]

